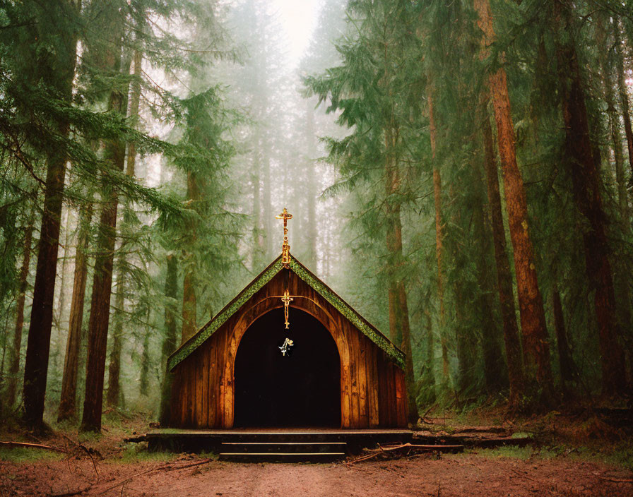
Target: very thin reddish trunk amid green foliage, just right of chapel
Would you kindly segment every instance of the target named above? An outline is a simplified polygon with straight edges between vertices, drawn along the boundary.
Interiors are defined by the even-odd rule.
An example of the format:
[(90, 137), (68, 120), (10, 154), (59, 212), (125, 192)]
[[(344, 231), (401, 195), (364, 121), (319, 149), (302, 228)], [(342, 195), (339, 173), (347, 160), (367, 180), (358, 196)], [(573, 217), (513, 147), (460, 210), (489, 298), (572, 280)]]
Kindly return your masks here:
[(431, 152), (433, 159), (433, 200), (435, 205), (435, 257), (437, 260), (437, 301), (439, 302), (439, 340), (442, 346), (442, 388), (449, 385), (449, 351), (446, 345), (446, 310), (444, 309), (444, 273), (442, 271), (442, 253), (444, 248), (442, 241), (442, 178), (435, 161), (435, 150), (437, 146), (437, 126), (435, 124), (435, 114), (433, 112), (432, 87), (429, 85), (429, 124), (431, 136)]

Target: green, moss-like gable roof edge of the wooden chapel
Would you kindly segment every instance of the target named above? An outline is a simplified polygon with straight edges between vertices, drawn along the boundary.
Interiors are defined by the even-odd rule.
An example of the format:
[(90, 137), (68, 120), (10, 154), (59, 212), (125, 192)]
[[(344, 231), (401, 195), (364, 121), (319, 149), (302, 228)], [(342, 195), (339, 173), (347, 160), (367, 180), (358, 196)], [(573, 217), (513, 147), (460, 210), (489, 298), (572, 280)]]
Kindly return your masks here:
[[(326, 299), (336, 310), (338, 310), (345, 318), (347, 318), (361, 333), (372, 340), (380, 349), (382, 349), (387, 356), (394, 361), (398, 366), (404, 368), (404, 353), (401, 349), (398, 349), (389, 338), (384, 336), (380, 331), (374, 327), (369, 321), (360, 316), (352, 306), (345, 302), (341, 297), (333, 292), (324, 282), (319, 280), (313, 273), (311, 273), (302, 263), (297, 261), (295, 257), (290, 255), (290, 270), (295, 273), (301, 280), (306, 282), (314, 291), (316, 291), (321, 297)], [(260, 289), (273, 279), (281, 270), (283, 264), (281, 263), (281, 256), (275, 259), (268, 268), (264, 269), (255, 279), (247, 285), (246, 288), (239, 292), (237, 296), (232, 299), (220, 312), (218, 312), (211, 321), (206, 323), (200, 330), (187, 342), (184, 342), (178, 349), (170, 355), (167, 359), (167, 369), (172, 371), (177, 364), (186, 359), (189, 354), (194, 352), (205, 342), (208, 337), (211, 337), (220, 326), (235, 314), (246, 302), (253, 297), (254, 294), (259, 292)]]

